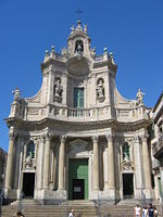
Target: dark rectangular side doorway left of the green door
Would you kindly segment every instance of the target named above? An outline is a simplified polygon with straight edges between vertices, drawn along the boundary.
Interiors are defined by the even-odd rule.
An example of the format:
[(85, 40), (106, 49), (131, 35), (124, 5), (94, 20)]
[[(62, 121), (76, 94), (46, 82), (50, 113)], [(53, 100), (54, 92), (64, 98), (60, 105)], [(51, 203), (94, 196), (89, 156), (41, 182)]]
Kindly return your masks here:
[(24, 173), (23, 174), (23, 196), (34, 197), (34, 187), (35, 187), (35, 173)]

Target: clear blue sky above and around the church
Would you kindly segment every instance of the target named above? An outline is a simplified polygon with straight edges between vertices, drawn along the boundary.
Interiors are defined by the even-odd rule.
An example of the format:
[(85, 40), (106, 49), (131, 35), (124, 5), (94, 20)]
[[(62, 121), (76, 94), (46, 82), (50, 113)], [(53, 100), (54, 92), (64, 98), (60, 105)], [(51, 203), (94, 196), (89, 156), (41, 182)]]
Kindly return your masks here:
[(97, 54), (105, 47), (113, 52), (121, 94), (135, 99), (141, 88), (145, 104), (156, 103), (163, 90), (163, 0), (0, 0), (0, 146), (5, 151), (12, 90), (18, 87), (23, 98), (38, 92), (45, 51), (66, 47), (78, 17), (88, 25)]

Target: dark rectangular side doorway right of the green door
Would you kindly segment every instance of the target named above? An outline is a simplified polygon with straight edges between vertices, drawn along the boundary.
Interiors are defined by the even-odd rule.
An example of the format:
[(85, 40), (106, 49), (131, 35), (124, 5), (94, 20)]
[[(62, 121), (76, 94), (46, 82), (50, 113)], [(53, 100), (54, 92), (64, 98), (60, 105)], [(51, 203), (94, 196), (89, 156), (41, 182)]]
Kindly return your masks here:
[(124, 199), (134, 196), (133, 174), (123, 174), (123, 196)]

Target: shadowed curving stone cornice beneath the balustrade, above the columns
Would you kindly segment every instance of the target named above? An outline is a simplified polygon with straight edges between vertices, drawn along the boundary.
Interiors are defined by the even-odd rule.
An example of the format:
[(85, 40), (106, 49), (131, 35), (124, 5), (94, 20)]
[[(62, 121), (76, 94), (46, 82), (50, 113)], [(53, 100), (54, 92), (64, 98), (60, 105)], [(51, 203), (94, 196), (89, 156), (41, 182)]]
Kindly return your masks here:
[(43, 118), (37, 122), (22, 120), (15, 117), (4, 119), (8, 127), (14, 126), (15, 129), (21, 130), (41, 130), (47, 126), (50, 128), (55, 128), (59, 131), (89, 131), (89, 130), (100, 130), (105, 128), (115, 129), (115, 131), (135, 131), (141, 128), (147, 128), (150, 125), (150, 120), (138, 120), (135, 123), (120, 123), (115, 119), (105, 119), (97, 122), (68, 122), (59, 120), (51, 118)]

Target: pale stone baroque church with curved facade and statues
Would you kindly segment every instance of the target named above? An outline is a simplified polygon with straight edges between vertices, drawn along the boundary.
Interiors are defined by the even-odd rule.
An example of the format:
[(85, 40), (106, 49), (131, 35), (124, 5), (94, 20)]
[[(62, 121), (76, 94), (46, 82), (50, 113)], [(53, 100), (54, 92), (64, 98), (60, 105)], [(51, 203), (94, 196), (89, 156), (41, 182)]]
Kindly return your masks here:
[(46, 51), (42, 85), (32, 98), (13, 91), (5, 193), (9, 200), (151, 200), (150, 110), (139, 89), (124, 99), (106, 48), (91, 48), (87, 26), (71, 28), (67, 47)]

